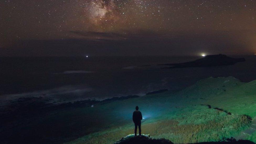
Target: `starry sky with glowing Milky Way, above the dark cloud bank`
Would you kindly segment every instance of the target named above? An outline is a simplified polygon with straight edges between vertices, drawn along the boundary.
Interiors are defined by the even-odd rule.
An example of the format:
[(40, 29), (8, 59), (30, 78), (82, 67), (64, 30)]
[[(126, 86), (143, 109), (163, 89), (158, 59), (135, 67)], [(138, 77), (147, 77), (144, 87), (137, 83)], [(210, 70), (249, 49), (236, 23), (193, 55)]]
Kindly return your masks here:
[[(255, 8), (255, 0), (0, 1), (0, 47), (17, 40), (81, 38), (71, 31), (171, 36), (189, 31), (252, 32)], [(254, 38), (250, 34), (247, 40)]]

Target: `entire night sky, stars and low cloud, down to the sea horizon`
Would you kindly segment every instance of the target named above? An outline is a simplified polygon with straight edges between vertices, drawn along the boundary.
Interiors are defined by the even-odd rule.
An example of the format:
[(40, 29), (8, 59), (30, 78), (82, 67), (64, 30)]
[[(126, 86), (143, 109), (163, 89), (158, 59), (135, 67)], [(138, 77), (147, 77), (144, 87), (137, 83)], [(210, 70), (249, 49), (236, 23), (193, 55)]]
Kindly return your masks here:
[(256, 52), (256, 0), (1, 0), (0, 20), (0, 56)]

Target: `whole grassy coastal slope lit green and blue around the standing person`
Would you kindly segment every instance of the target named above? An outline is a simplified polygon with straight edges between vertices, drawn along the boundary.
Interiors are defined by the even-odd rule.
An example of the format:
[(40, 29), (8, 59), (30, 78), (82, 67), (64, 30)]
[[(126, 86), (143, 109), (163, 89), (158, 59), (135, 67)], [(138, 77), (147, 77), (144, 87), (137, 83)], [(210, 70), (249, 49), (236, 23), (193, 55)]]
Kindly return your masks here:
[[(255, 86), (256, 81), (243, 83), (233, 77), (211, 77), (180, 92), (79, 108), (70, 111), (74, 113), (72, 119), (83, 117), (86, 132), (69, 143), (114, 143), (132, 134), (131, 117), (136, 105), (145, 118), (142, 133), (153, 138), (166, 138), (174, 143), (220, 141), (230, 137), (256, 142), (256, 132), (250, 128), (253, 121), (250, 118), (256, 116)], [(246, 134), (248, 129), (252, 129), (250, 134)]]

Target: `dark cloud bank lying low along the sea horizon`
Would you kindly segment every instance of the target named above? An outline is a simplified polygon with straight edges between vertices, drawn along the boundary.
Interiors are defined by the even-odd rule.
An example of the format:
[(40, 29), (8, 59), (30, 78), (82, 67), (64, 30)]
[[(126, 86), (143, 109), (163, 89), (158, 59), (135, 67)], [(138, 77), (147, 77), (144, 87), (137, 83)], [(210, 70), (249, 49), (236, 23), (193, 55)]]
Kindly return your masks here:
[(2, 56), (138, 56), (239, 55), (253, 52), (255, 31), (187, 31), (153, 33), (148, 30), (102, 33), (70, 31), (63, 40), (26, 40), (0, 49)]

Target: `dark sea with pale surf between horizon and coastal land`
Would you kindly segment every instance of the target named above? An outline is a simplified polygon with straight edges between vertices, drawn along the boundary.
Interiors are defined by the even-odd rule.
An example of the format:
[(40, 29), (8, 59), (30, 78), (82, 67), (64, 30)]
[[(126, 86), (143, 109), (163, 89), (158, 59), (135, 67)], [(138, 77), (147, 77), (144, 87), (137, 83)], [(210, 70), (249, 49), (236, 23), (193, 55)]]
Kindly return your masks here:
[(164, 63), (193, 61), (200, 56), (137, 57), (4, 57), (0, 58), (1, 105), (26, 97), (48, 102), (103, 100), (145, 95), (159, 89), (180, 90), (207, 77), (256, 79), (255, 56), (230, 66), (163, 69)]

